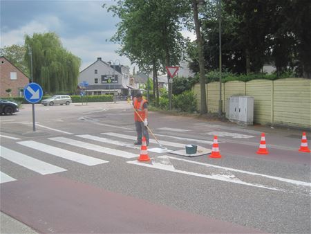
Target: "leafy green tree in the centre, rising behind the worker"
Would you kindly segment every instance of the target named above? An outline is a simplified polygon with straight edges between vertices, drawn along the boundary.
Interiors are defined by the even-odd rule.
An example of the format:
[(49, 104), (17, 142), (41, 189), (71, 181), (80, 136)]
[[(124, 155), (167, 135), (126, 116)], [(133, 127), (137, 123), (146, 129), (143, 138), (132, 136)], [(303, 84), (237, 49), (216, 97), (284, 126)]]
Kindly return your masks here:
[(171, 1), (118, 1), (116, 6), (107, 7), (121, 22), (112, 42), (120, 43), (117, 53), (126, 55), (140, 69), (153, 67), (153, 88), (156, 103), (159, 102), (158, 71), (165, 66), (179, 64), (185, 40), (180, 33), (179, 19), (185, 9), (186, 0)]

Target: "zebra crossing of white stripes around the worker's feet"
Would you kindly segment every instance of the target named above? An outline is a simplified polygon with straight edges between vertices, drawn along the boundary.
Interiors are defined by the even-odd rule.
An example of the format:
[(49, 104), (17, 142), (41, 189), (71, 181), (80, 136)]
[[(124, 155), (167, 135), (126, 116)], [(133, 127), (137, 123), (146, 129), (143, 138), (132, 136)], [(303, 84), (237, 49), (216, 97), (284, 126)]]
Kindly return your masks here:
[[(106, 135), (106, 137), (103, 137)], [(0, 136), (1, 137), (1, 136)], [(116, 140), (117, 138), (117, 140)], [(138, 158), (140, 154), (140, 147), (133, 145), (135, 136), (130, 136), (127, 134), (117, 134), (113, 132), (106, 132), (100, 134), (100, 136), (90, 135), (90, 134), (77, 134), (70, 135), (66, 137), (51, 137), (39, 139), (38, 141), (22, 141), (19, 138), (16, 138), (17, 145), (27, 148), (27, 152), (32, 152), (37, 155), (38, 152), (44, 153), (44, 155), (56, 156), (57, 158), (65, 159), (72, 163), (79, 163), (86, 166), (100, 165), (104, 163), (109, 163), (109, 161), (98, 159), (93, 156), (94, 152), (100, 153), (100, 155), (110, 155), (117, 156), (125, 159)], [(79, 140), (81, 141), (79, 141)], [(119, 141), (121, 139), (121, 141)], [(126, 139), (127, 141), (124, 141)], [(14, 140), (12, 138), (12, 140)], [(44, 143), (40, 142), (44, 141)], [(90, 143), (86, 142), (89, 141)], [(160, 141), (163, 145), (169, 145), (171, 147), (185, 147), (185, 144), (174, 143), (169, 141)], [(57, 145), (55, 145), (57, 143)], [(150, 143), (156, 143), (152, 140)], [(101, 145), (102, 144), (102, 145)], [(103, 146), (104, 145), (104, 146)], [(117, 150), (109, 145), (118, 145), (119, 147), (125, 147), (131, 149), (129, 150)], [(66, 147), (74, 146), (74, 150), (66, 150)], [(12, 147), (11, 147), (12, 148)], [(72, 147), (70, 148), (72, 149)], [(79, 151), (87, 152), (85, 154)], [(29, 151), (30, 150), (30, 151)], [(133, 151), (136, 151), (135, 153)], [(26, 154), (25, 151), (21, 152), (20, 147), (15, 147), (15, 149), (10, 149), (9, 147), (0, 146), (0, 158), (10, 161), (10, 163), (17, 164), (23, 168), (37, 172), (39, 174), (54, 174), (59, 172), (65, 172), (68, 168), (65, 168), (64, 165), (53, 165), (36, 159), (31, 156), (30, 153)], [(152, 149), (151, 149), (152, 152)], [(92, 156), (91, 156), (92, 155)], [(8, 172), (0, 171), (0, 183), (6, 183), (10, 181), (15, 181), (14, 175), (11, 175)]]

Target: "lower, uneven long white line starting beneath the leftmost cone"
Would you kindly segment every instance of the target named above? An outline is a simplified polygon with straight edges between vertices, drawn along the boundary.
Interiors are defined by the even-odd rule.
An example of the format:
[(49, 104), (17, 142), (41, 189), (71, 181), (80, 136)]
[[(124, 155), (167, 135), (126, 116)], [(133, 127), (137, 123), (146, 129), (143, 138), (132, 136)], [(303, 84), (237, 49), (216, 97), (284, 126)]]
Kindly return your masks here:
[[(162, 158), (164, 156), (161, 156)], [(200, 174), (200, 173), (196, 173), (196, 172), (187, 172), (187, 171), (184, 171), (184, 170), (176, 170), (175, 168), (171, 168), (171, 167), (164, 167), (162, 165), (154, 165), (154, 164), (147, 164), (147, 163), (140, 163), (140, 161), (127, 161), (126, 163), (130, 163), (130, 164), (135, 164), (135, 165), (142, 165), (144, 167), (148, 167), (148, 168), (156, 168), (156, 169), (160, 169), (160, 170), (167, 170), (169, 172), (176, 172), (176, 173), (180, 173), (180, 174), (188, 174), (188, 175), (193, 175), (193, 176), (196, 176), (196, 177), (203, 177), (203, 178), (207, 178), (207, 179), (216, 179), (216, 180), (219, 180), (219, 181), (226, 181), (226, 182), (230, 182), (230, 183), (239, 183), (239, 184), (242, 184), (242, 185), (245, 185), (245, 186), (252, 186), (252, 187), (257, 187), (257, 188), (266, 188), (266, 189), (269, 189), (269, 190), (277, 190), (277, 191), (280, 191), (279, 189), (277, 188), (271, 188), (271, 187), (267, 187), (267, 186), (262, 186), (260, 184), (255, 184), (255, 183), (247, 183), (247, 182), (244, 182), (244, 181), (241, 181), (240, 179), (237, 179), (236, 177), (234, 178), (230, 178), (228, 176), (224, 176), (222, 174), (211, 174), (211, 175), (208, 175), (208, 174)]]

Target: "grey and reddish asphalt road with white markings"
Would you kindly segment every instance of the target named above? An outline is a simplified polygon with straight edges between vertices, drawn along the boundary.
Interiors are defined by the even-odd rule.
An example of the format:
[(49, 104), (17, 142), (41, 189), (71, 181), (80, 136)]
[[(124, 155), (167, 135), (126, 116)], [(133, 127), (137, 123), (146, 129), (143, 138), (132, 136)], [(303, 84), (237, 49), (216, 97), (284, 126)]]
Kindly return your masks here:
[[(38, 233), (311, 233), (300, 130), (150, 111), (167, 149), (211, 149), (217, 135), (222, 158), (151, 141), (139, 162), (127, 102), (35, 105), (35, 117), (33, 132), (31, 105), (1, 116), (0, 192), (1, 212)], [(267, 155), (256, 154), (262, 132)]]

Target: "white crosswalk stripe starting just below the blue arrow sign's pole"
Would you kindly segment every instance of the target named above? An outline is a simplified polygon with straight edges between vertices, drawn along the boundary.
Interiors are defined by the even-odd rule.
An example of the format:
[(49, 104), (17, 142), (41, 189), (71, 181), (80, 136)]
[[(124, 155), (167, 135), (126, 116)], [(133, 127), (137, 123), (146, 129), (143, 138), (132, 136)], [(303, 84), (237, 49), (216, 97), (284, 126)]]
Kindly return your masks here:
[(109, 163), (109, 161), (104, 161), (102, 159), (96, 159), (91, 156), (86, 156), (84, 154), (78, 154), (75, 152), (71, 152), (69, 150), (64, 150), (59, 147), (46, 145), (46, 144), (39, 143), (36, 141), (20, 141), (18, 143), (26, 147), (35, 149), (35, 150), (39, 150), (41, 152), (46, 152), (48, 154), (59, 156), (63, 159), (68, 159), (70, 161), (75, 161), (77, 163), (82, 163), (84, 165), (97, 165), (97, 164), (102, 164), (102, 163)]

